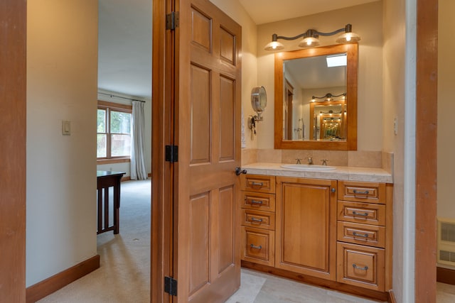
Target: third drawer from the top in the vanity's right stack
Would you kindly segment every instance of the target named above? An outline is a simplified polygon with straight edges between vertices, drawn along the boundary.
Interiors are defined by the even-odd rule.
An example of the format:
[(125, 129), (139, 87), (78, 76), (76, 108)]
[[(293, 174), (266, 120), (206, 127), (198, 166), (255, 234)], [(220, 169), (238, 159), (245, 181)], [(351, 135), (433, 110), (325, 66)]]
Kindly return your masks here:
[(385, 227), (338, 221), (338, 241), (385, 247)]

